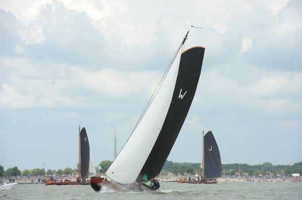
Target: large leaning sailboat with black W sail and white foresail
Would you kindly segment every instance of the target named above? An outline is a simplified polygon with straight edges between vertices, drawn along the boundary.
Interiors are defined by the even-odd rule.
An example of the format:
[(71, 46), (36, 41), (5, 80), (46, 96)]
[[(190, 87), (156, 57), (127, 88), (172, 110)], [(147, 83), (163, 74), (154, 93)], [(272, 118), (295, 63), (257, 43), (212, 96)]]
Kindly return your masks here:
[(197, 88), (204, 47), (185, 50), (189, 31), (150, 98), (124, 147), (105, 172), (90, 178), (95, 191), (151, 191), (159, 189), (155, 177), (186, 119)]

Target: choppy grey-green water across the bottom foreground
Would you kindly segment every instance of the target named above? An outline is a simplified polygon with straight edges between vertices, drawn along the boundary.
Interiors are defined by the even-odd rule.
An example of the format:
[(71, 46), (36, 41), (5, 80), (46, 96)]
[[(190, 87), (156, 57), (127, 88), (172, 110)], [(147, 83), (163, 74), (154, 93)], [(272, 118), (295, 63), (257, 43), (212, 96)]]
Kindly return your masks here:
[(90, 185), (18, 184), (13, 189), (0, 190), (0, 199), (302, 199), (302, 183), (160, 183), (161, 191), (148, 193), (95, 192)]

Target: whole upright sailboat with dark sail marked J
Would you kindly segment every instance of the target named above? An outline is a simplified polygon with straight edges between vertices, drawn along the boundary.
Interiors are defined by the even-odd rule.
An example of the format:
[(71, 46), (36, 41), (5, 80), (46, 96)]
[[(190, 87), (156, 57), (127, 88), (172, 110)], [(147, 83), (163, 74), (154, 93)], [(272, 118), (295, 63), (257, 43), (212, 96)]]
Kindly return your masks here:
[(220, 152), (212, 131), (204, 134), (202, 130), (202, 138), (201, 180), (179, 179), (179, 183), (217, 183), (215, 178), (221, 176)]

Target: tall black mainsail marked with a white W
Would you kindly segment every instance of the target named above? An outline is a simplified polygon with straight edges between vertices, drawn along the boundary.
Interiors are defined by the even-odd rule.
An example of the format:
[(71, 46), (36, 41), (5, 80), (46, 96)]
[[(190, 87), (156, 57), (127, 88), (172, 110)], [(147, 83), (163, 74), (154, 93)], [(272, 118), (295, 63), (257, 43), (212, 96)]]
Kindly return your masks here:
[(161, 172), (193, 101), (201, 72), (204, 50), (203, 47), (193, 47), (182, 53), (167, 116), (136, 181), (141, 181), (144, 175), (150, 179)]

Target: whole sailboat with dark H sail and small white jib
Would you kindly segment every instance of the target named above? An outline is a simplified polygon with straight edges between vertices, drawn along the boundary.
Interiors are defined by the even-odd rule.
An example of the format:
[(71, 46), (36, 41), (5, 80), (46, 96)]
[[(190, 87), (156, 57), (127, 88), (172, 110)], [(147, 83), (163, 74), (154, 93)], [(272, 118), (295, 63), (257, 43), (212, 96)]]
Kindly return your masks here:
[(80, 131), (79, 125), (79, 177), (77, 181), (70, 180), (46, 180), (45, 185), (87, 185), (89, 172), (96, 174), (96, 169), (90, 156), (90, 147), (85, 127)]

